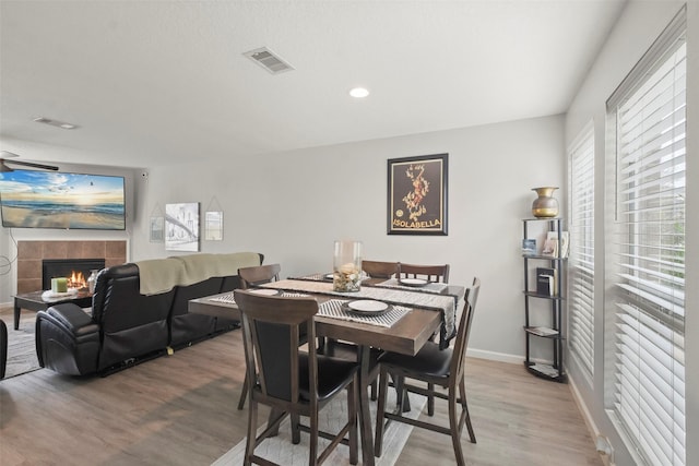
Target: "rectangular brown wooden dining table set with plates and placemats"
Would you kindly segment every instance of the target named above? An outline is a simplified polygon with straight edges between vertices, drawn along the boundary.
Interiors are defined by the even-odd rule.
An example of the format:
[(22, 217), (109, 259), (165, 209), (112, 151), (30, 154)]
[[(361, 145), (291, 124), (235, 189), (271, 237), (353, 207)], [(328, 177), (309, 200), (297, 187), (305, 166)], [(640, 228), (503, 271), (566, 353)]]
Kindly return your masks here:
[[(286, 291), (299, 291), (305, 286), (304, 279), (284, 279), (271, 284), (262, 285), (265, 288), (276, 288)], [(368, 279), (363, 283), (364, 287), (380, 287), (386, 279)], [(351, 294), (335, 294), (332, 291), (332, 282), (327, 284), (316, 284), (313, 289), (320, 291), (304, 291), (313, 296), (319, 303), (323, 303), (331, 299), (357, 299), (364, 298), (362, 290)], [(396, 291), (404, 292), (405, 300), (411, 292), (420, 292), (418, 289), (403, 289), (402, 287), (392, 287)], [(325, 290), (325, 291), (323, 291)], [(367, 290), (366, 292), (369, 292)], [(399, 297), (402, 292), (393, 294)], [(454, 298), (454, 309), (457, 302), (461, 301), (465, 294), (465, 287), (446, 286), (441, 295), (452, 296)], [(189, 312), (218, 316), (225, 319), (240, 319), (240, 312), (235, 302), (227, 302), (227, 298), (233, 295), (232, 291), (221, 295), (208, 296), (203, 298), (192, 299), (189, 301)], [(230, 300), (232, 301), (232, 300)], [(371, 415), (369, 411), (369, 395), (366, 386), (371, 382), (369, 380), (369, 350), (371, 347), (380, 347), (382, 350), (401, 353), (404, 355), (416, 355), (423, 345), (427, 343), (433, 334), (438, 333), (442, 325), (442, 314), (435, 309), (425, 309), (413, 307), (398, 322), (390, 327), (340, 320), (331, 316), (317, 314), (315, 318), (316, 333), (318, 336), (328, 338), (343, 339), (355, 343), (357, 345), (359, 369), (359, 433), (362, 438), (362, 456), (364, 465), (374, 465), (374, 434), (371, 426)]]

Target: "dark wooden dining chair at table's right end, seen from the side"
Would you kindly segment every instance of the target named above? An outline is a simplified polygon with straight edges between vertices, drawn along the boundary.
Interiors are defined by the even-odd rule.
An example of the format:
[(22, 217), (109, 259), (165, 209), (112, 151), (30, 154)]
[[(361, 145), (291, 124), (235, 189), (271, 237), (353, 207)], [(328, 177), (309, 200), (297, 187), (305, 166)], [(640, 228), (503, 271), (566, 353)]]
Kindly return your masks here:
[[(383, 430), (386, 426), (390, 421), (395, 420), (450, 435), (451, 443), (454, 447), (457, 464), (459, 466), (465, 465), (460, 441), (463, 426), (465, 425), (466, 429), (469, 429), (471, 443), (476, 443), (476, 437), (473, 431), (473, 426), (471, 425), (471, 416), (469, 415), (469, 405), (466, 403), (464, 366), (466, 361), (469, 334), (471, 333), (471, 324), (473, 322), (479, 290), (481, 280), (476, 277), (473, 279), (473, 285), (466, 290), (463, 312), (461, 313), (459, 321), (459, 330), (457, 332), (453, 348), (439, 349), (438, 344), (427, 342), (416, 356), (384, 353), (379, 358), (380, 378), (375, 439), (376, 456), (381, 456)], [(388, 391), (389, 374), (400, 377), (404, 380), (402, 386), (403, 396), (401, 397), (399, 406), (394, 413), (386, 410), (386, 394)], [(427, 382), (428, 389), (410, 383), (412, 380)], [(430, 390), (429, 386), (431, 386), (433, 390)], [(445, 387), (447, 389), (447, 393), (436, 391), (434, 390), (434, 386)], [(459, 393), (457, 393), (457, 389), (459, 390)], [(407, 398), (408, 392), (427, 396), (428, 404), (430, 403), (430, 397), (433, 403), (434, 397), (447, 399), (449, 407), (449, 427), (447, 428), (435, 422), (404, 417), (402, 399)], [(457, 410), (457, 405), (461, 406), (461, 413)], [(434, 415), (434, 405), (431, 410), (428, 406), (428, 415)], [(387, 420), (386, 422), (384, 419)]]

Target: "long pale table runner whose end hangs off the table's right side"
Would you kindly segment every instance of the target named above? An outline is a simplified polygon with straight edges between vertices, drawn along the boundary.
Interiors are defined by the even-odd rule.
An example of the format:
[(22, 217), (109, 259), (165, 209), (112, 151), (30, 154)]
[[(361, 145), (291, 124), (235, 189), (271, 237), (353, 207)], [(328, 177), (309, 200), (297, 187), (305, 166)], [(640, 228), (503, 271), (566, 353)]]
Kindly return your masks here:
[(446, 348), (449, 340), (455, 335), (455, 314), (458, 297), (451, 295), (436, 295), (434, 292), (419, 292), (398, 288), (379, 288), (363, 286), (359, 291), (337, 292), (333, 291), (331, 282), (313, 279), (282, 279), (260, 285), (264, 288), (275, 288), (289, 291), (306, 291), (321, 295), (341, 296), (344, 299), (368, 298), (398, 306), (408, 306), (423, 309), (434, 309), (441, 312), (442, 323), (439, 346)]

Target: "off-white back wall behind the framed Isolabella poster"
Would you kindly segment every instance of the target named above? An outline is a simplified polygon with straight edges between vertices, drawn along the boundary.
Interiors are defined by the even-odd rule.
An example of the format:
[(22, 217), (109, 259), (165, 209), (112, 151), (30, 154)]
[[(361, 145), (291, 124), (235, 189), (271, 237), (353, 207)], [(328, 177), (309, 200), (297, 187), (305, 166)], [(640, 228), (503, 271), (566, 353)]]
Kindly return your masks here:
[[(561, 186), (562, 124), (557, 116), (150, 168), (147, 181), (138, 180), (132, 256), (175, 254), (149, 241), (151, 213), (179, 202), (199, 202), (203, 212), (215, 198), (224, 211), (224, 241), (202, 241), (203, 252), (259, 251), (292, 276), (329, 271), (333, 240), (352, 238), (364, 242), (367, 259), (448, 262), (450, 282), (464, 285), (479, 276), (471, 347), (521, 362), (521, 218), (531, 217), (531, 188)], [(439, 153), (449, 153), (449, 235), (388, 236), (387, 159)]]

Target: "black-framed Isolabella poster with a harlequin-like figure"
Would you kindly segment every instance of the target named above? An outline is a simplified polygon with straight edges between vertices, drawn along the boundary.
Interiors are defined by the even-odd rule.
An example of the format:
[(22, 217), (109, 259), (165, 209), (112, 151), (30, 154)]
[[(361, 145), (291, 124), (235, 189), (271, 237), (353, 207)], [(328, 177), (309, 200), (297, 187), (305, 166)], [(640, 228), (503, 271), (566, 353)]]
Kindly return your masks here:
[(388, 160), (389, 235), (447, 235), (448, 156)]

